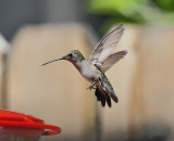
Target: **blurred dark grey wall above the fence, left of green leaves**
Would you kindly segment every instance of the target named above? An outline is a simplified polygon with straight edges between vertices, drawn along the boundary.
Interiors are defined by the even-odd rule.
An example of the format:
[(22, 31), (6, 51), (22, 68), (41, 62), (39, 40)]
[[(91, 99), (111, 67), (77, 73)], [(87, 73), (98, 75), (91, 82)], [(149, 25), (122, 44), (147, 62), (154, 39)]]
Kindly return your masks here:
[(11, 40), (22, 26), (84, 21), (83, 0), (0, 0), (0, 33)]

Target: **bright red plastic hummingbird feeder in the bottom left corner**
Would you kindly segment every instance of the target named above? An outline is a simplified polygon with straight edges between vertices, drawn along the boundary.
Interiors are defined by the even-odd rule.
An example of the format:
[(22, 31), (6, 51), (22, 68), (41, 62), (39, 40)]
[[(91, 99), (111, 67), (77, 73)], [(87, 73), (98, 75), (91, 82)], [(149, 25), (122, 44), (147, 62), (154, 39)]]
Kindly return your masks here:
[(0, 110), (0, 141), (39, 141), (41, 136), (58, 134), (61, 128), (18, 112)]

